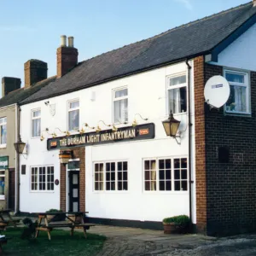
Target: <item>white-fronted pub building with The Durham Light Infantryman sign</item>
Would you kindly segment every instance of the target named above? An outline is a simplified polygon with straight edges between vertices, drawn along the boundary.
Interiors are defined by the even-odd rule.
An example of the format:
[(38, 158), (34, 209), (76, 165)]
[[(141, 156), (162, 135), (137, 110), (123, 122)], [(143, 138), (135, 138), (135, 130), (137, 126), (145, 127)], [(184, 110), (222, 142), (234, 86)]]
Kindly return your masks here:
[[(57, 79), (20, 102), (20, 211), (154, 228), (187, 214), (212, 236), (255, 230), (255, 5), (82, 62), (62, 36)], [(215, 75), (230, 84), (219, 109), (204, 98)], [(170, 111), (176, 139), (162, 124)]]

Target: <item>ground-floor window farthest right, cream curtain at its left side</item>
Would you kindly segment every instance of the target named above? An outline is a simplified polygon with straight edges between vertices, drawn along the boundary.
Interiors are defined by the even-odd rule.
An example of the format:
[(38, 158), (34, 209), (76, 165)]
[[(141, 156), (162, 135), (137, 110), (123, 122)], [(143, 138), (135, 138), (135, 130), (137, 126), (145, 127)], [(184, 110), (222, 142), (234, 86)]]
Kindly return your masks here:
[(145, 191), (188, 190), (187, 158), (143, 160)]

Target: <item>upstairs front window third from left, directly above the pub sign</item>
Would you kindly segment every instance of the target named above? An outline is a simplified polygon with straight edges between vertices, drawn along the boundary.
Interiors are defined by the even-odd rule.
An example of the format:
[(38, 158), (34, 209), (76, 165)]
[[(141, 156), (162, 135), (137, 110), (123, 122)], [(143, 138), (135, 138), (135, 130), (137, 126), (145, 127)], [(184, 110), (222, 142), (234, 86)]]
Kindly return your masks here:
[(113, 91), (113, 122), (128, 122), (128, 89)]

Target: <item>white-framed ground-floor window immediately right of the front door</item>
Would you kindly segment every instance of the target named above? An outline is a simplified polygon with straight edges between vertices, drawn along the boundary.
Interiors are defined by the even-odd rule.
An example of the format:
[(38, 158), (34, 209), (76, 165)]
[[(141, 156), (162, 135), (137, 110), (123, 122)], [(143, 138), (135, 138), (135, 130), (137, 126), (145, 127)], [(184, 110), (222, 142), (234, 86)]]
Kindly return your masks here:
[(128, 162), (108, 161), (94, 164), (95, 190), (128, 190)]

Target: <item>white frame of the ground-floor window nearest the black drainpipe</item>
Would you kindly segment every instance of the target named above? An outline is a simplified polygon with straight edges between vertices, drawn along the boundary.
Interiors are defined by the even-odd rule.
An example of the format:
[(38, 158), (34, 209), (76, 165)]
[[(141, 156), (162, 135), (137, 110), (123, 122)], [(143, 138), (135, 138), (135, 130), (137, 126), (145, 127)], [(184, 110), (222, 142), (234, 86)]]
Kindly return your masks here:
[[(175, 189), (175, 184), (174, 184), (174, 160), (175, 159), (187, 159), (187, 190), (174, 190)], [(172, 184), (172, 190), (160, 190), (159, 189), (159, 182), (160, 182), (160, 178), (159, 178), (159, 160), (168, 160), (171, 159), (171, 184)], [(155, 160), (156, 161), (156, 190), (146, 190), (145, 189), (145, 169), (144, 169), (144, 162), (145, 160)], [(189, 157), (188, 155), (177, 155), (177, 156), (160, 156), (160, 157), (149, 157), (149, 158), (143, 158), (142, 160), (142, 168), (143, 168), (143, 193), (146, 194), (189, 194)], [(162, 170), (162, 169), (161, 169)], [(165, 179), (166, 181), (166, 179)]]

